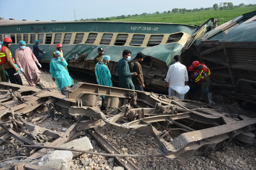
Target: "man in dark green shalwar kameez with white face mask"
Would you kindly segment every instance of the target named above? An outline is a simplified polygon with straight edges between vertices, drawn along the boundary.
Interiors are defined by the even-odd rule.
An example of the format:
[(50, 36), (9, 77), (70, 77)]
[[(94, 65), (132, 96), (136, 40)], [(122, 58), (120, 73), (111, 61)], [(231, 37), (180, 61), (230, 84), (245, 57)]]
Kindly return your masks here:
[(136, 76), (137, 73), (130, 73), (129, 65), (127, 60), (131, 59), (132, 52), (128, 49), (123, 51), (123, 58), (118, 61), (118, 75), (119, 75), (119, 87), (124, 89), (132, 89), (135, 90), (134, 85), (132, 83), (131, 76)]

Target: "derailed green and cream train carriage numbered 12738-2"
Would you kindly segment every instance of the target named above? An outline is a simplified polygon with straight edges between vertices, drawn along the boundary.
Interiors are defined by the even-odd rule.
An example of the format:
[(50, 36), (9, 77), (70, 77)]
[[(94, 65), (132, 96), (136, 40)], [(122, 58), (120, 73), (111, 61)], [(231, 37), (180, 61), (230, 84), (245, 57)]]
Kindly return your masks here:
[(31, 49), (34, 41), (39, 40), (39, 47), (46, 51), (45, 54), (40, 53), (44, 63), (50, 63), (52, 53), (56, 51), (55, 45), (61, 43), (68, 67), (90, 74), (94, 74), (93, 59), (98, 55), (97, 48), (103, 47), (104, 54), (111, 57), (108, 67), (113, 81), (118, 81), (117, 62), (122, 58), (122, 51), (132, 51), (131, 60), (142, 51), (146, 55), (142, 71), (147, 87), (162, 89), (174, 55), (182, 53), (183, 47), (197, 30), (195, 26), (166, 23), (1, 19), (0, 41), (4, 37), (12, 38), (10, 50), (14, 53), (20, 40), (24, 40)]

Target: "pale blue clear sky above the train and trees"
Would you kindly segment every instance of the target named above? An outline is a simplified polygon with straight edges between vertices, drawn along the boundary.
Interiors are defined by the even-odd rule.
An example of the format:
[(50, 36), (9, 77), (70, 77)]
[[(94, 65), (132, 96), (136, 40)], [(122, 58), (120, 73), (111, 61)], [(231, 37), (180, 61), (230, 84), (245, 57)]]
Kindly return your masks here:
[(208, 8), (220, 2), (256, 4), (256, 0), (0, 0), (0, 17), (15, 20), (72, 21), (81, 18), (164, 12), (173, 8)]

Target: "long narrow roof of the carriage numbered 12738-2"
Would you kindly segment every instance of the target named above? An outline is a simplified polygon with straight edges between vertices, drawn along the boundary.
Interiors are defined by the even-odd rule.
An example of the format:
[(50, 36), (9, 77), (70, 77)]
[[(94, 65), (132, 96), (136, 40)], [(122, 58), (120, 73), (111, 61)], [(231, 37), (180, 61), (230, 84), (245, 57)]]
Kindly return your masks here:
[[(0, 19), (0, 26), (15, 26), (15, 25), (28, 25), (28, 24), (60, 24), (60, 23), (88, 23), (88, 22), (105, 22), (105, 23), (146, 23), (146, 24), (168, 24), (172, 25), (175, 23), (161, 23), (161, 22), (119, 22), (119, 21), (21, 21), (21, 20), (8, 20), (8, 19)], [(184, 24), (176, 24), (176, 25), (184, 25)], [(190, 25), (184, 25), (190, 26)], [(191, 26), (195, 27), (195, 26)], [(195, 27), (197, 28), (197, 27)]]

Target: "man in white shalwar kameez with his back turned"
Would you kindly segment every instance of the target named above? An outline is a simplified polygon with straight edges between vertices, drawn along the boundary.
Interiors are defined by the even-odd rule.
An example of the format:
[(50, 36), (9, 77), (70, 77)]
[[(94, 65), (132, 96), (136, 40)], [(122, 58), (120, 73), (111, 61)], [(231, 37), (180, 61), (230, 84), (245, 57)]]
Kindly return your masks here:
[(175, 55), (173, 59), (174, 64), (170, 65), (168, 69), (164, 87), (167, 88), (169, 82), (169, 96), (184, 99), (184, 95), (189, 90), (187, 68), (180, 63), (179, 55)]

